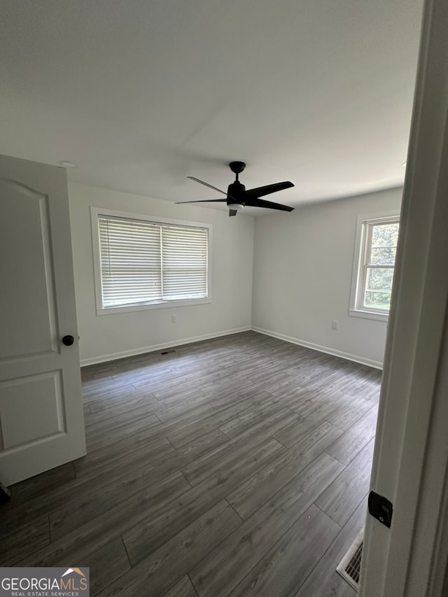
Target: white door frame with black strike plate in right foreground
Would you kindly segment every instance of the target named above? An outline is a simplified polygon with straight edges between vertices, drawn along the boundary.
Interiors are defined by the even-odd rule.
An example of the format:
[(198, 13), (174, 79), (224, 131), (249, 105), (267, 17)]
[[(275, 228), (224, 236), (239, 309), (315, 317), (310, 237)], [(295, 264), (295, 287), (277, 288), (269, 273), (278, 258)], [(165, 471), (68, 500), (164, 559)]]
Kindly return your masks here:
[(426, 0), (360, 597), (442, 597), (448, 562), (448, 3)]

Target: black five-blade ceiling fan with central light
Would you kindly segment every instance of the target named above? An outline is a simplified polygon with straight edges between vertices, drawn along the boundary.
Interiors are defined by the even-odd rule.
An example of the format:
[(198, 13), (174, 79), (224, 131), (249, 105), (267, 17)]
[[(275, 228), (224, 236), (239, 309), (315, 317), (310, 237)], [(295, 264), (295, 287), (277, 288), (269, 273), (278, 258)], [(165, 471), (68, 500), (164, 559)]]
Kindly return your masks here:
[(290, 181), (284, 181), (283, 183), (274, 183), (273, 185), (265, 185), (263, 187), (257, 187), (254, 189), (246, 190), (246, 187), (239, 182), (238, 175), (246, 167), (244, 162), (230, 162), (229, 164), (230, 169), (232, 172), (235, 173), (235, 182), (228, 186), (227, 192), (218, 189), (209, 183), (204, 183), (201, 181), (200, 178), (195, 178), (195, 176), (187, 176), (187, 178), (191, 178), (192, 181), (196, 181), (197, 183), (201, 183), (206, 187), (214, 189), (218, 192), (221, 192), (223, 195), (226, 196), (226, 199), (202, 199), (199, 201), (179, 201), (178, 204), (181, 203), (215, 203), (226, 202), (229, 208), (229, 216), (236, 216), (239, 209), (243, 209), (243, 207), (267, 207), (269, 209), (279, 209), (281, 211), (293, 211), (293, 207), (289, 207), (288, 205), (282, 205), (280, 203), (274, 203), (272, 201), (265, 201), (265, 199), (260, 199), (260, 197), (264, 197), (265, 195), (270, 195), (272, 192), (277, 192), (279, 190), (288, 189), (293, 187), (293, 183)]

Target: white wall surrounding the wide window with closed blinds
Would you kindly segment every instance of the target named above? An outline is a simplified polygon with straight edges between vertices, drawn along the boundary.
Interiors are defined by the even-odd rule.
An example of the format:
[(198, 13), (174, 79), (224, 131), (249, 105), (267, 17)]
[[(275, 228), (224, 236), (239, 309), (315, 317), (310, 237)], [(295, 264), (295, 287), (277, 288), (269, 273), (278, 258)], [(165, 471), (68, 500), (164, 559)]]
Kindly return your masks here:
[[(81, 364), (250, 328), (254, 218), (75, 183), (69, 199)], [(212, 302), (97, 316), (90, 206), (211, 223)]]

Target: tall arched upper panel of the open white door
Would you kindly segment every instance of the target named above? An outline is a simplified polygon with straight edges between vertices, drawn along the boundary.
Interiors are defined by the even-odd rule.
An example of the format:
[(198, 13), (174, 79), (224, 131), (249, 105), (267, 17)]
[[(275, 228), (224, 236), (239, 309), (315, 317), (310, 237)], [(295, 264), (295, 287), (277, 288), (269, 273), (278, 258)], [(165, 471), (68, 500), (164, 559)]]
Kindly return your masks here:
[[(5, 180), (0, 180), (0, 197), (0, 235), (4, 248), (1, 279), (8, 280), (10, 286), (4, 297), (6, 304), (0, 314), (0, 326), (11, 332), (0, 337), (0, 358), (54, 351), (56, 326), (48, 197)], [(29, 309), (31, 297), (33, 308)]]

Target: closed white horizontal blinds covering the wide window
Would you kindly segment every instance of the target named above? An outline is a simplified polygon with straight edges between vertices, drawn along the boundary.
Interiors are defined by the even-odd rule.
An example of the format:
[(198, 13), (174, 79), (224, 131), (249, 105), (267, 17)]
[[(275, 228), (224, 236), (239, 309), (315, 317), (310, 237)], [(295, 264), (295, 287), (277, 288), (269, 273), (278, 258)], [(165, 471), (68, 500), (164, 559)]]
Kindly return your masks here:
[(97, 214), (102, 309), (209, 297), (209, 229)]

